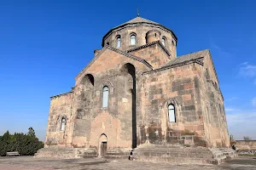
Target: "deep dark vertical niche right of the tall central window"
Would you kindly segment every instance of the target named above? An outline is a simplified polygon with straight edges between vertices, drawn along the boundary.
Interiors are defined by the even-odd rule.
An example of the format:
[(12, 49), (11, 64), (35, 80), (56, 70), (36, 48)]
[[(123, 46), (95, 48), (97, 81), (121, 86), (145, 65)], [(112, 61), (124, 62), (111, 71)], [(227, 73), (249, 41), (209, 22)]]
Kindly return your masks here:
[(137, 147), (137, 114), (136, 114), (136, 71), (134, 65), (127, 63), (124, 65), (126, 73), (132, 77), (132, 89), (131, 89), (131, 128), (132, 128), (132, 148)]

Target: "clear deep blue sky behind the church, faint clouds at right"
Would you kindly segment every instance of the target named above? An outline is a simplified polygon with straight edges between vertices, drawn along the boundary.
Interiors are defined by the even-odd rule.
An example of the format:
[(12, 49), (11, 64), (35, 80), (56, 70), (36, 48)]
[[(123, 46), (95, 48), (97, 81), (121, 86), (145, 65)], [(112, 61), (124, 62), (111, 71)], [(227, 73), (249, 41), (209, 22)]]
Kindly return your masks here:
[(33, 127), (44, 140), (49, 97), (68, 92), (104, 34), (139, 8), (143, 18), (175, 32), (178, 55), (211, 50), (229, 132), (256, 139), (255, 6), (253, 0), (2, 1), (0, 134)]

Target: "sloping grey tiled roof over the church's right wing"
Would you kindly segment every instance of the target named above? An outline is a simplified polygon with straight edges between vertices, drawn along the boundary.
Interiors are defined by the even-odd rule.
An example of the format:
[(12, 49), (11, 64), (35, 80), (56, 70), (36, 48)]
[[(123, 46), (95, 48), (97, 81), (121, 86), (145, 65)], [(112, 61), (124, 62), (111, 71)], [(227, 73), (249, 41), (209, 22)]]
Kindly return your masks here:
[(172, 61), (168, 62), (165, 66), (177, 65), (192, 59), (200, 59), (204, 57), (207, 53), (209, 53), (209, 49), (205, 49), (191, 54), (185, 54), (180, 57), (177, 57), (176, 59), (173, 59)]

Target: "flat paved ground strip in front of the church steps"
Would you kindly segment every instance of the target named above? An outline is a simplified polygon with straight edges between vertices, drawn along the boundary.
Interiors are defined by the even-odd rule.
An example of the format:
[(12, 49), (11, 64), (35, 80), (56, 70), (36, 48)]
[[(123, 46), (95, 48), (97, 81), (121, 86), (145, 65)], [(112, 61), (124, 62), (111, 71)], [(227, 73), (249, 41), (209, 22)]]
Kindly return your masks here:
[(221, 165), (170, 165), (161, 163), (148, 163), (138, 161), (108, 161), (104, 159), (45, 159), (32, 156), (0, 157), (1, 170), (153, 170), (153, 169), (175, 169), (175, 170), (256, 170), (256, 157), (236, 157)]

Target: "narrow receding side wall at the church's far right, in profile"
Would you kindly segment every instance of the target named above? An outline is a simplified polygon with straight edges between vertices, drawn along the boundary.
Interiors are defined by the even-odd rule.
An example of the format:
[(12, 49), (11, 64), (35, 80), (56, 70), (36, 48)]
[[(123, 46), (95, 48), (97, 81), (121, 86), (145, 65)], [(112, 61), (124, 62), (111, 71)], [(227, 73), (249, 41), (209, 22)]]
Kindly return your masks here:
[(198, 77), (201, 89), (199, 99), (201, 99), (204, 115), (205, 138), (211, 147), (229, 147), (224, 99), (218, 87), (218, 77), (210, 54), (204, 58), (203, 62), (203, 67), (198, 67), (197, 70), (201, 72)]

